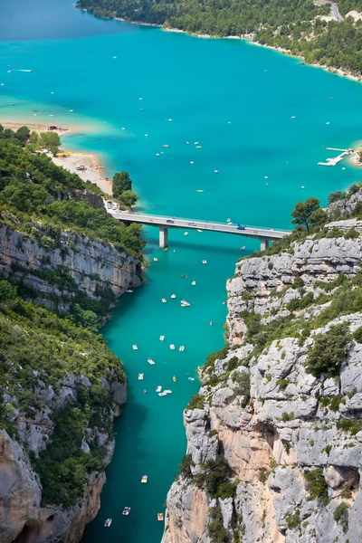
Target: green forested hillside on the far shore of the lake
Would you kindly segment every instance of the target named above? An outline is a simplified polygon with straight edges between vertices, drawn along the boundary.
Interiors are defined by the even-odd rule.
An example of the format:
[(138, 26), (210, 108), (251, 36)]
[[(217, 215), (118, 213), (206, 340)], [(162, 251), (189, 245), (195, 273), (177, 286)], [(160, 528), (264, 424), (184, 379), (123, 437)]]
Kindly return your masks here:
[[(360, 0), (338, 0), (342, 17), (361, 10)], [(330, 5), (312, 0), (79, 0), (77, 6), (100, 17), (159, 24), (187, 33), (252, 35), (263, 45), (281, 47), (305, 62), (362, 76), (362, 21), (321, 19)]]

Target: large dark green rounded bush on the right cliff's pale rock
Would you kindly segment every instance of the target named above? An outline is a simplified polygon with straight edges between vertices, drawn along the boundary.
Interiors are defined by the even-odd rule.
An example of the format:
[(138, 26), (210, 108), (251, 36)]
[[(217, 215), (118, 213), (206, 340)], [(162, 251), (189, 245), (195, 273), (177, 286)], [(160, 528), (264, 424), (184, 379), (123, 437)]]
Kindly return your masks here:
[(315, 377), (339, 376), (339, 369), (346, 360), (351, 335), (347, 324), (331, 326), (314, 339), (306, 360), (307, 371)]

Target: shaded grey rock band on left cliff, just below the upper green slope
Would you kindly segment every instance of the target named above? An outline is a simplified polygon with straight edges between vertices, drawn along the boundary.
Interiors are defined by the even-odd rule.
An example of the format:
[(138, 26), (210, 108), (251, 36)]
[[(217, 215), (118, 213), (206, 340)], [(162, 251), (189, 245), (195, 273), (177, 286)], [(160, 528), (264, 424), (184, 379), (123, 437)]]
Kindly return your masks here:
[[(129, 287), (140, 285), (138, 261), (111, 243), (67, 232), (57, 237), (54, 242), (41, 233), (36, 239), (0, 226), (0, 273), (22, 281), (36, 292), (39, 303), (62, 313), (69, 310), (77, 291), (100, 300), (104, 289), (117, 298)], [(73, 281), (62, 281), (64, 272)]]

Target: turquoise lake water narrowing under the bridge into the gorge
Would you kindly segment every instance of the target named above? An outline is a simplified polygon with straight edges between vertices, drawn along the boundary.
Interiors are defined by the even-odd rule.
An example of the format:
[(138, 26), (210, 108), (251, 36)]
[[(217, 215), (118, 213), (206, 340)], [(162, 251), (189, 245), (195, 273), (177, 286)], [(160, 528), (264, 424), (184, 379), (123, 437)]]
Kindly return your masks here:
[[(24, 69), (33, 72), (17, 71)], [(0, 121), (78, 127), (63, 147), (97, 152), (110, 176), (128, 170), (138, 209), (149, 213), (289, 228), (296, 201), (314, 195), (325, 204), (331, 191), (361, 176), (347, 160), (317, 163), (333, 156), (326, 147), (361, 138), (362, 85), (240, 40), (100, 20), (71, 0), (0, 0), (0, 83)], [(157, 235), (145, 229), (145, 285), (119, 300), (102, 330), (124, 361), (129, 401), (115, 424), (100, 513), (84, 543), (160, 541), (157, 512), (186, 450), (182, 413), (198, 389), (196, 367), (223, 347), (226, 278), (242, 254), (258, 248), (222, 233), (170, 231), (163, 252)], [(181, 299), (191, 307), (181, 308)], [(173, 394), (159, 397), (158, 385)], [(124, 506), (129, 517), (121, 515)]]

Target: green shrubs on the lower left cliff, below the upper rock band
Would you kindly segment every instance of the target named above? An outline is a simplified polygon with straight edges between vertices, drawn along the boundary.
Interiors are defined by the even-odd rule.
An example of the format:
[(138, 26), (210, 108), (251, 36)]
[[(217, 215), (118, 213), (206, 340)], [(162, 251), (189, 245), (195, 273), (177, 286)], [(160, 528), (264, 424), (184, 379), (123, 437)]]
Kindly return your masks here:
[[(111, 434), (113, 401), (100, 377), (111, 373), (113, 380), (123, 382), (121, 363), (100, 335), (24, 301), (5, 280), (0, 281), (0, 329), (0, 425), (14, 437), (14, 411), (34, 419), (41, 409), (39, 387), (56, 391), (69, 374), (90, 380), (90, 386), (78, 386), (75, 402), (52, 415), (52, 441), (33, 458), (43, 503), (67, 507), (82, 495), (87, 475), (103, 467), (103, 449), (91, 441), (90, 452), (83, 452), (81, 443), (87, 427)], [(7, 403), (5, 390), (12, 398)]]

